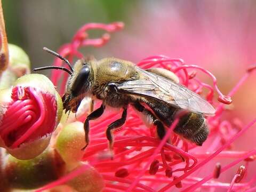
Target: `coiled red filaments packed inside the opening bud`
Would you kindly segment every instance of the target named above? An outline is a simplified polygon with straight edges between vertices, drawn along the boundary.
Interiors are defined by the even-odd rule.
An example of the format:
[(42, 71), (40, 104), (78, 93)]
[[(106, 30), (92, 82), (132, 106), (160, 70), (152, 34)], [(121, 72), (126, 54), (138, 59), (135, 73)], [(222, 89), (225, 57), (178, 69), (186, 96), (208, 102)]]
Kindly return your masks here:
[(56, 118), (52, 117), (57, 113), (55, 95), (34, 87), (15, 86), (11, 98), (0, 127), (7, 147), (17, 148), (52, 133), (56, 123)]

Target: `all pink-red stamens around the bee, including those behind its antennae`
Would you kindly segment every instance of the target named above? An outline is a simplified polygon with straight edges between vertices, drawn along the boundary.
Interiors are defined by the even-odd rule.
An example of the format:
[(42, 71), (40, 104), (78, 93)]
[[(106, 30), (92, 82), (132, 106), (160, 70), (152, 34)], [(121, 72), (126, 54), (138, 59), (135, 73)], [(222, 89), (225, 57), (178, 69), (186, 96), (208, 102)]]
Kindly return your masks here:
[[(79, 53), (79, 51), (77, 50), (79, 49), (79, 47), (89, 45), (95, 47), (102, 46), (109, 41), (110, 37), (109, 34), (106, 34), (103, 35), (101, 38), (90, 39), (86, 31), (89, 29), (96, 29), (97, 27), (99, 29), (106, 30), (107, 32), (116, 30), (116, 28), (113, 26), (108, 26), (109, 28), (106, 26), (107, 25), (98, 25), (95, 23), (83, 26), (73, 37), (73, 40), (70, 44), (66, 44), (65, 46), (61, 47), (59, 53), (63, 51), (62, 55), (65, 55), (70, 61), (73, 60), (74, 57), (82, 58), (82, 54)], [(62, 62), (58, 61), (58, 65), (62, 65)], [(154, 191), (153, 189), (159, 190), (159, 186), (162, 186), (163, 183), (166, 183), (166, 186), (159, 190), (165, 191), (170, 190), (170, 187), (173, 187), (174, 185), (177, 185), (177, 183), (181, 182), (183, 185), (192, 185), (193, 189), (191, 190), (195, 190), (197, 187), (205, 187), (209, 190), (211, 188), (228, 189), (230, 183), (215, 181), (207, 182), (207, 179), (209, 180), (213, 177), (217, 178), (221, 172), (226, 171), (231, 166), (237, 164), (239, 161), (254, 161), (255, 151), (232, 151), (229, 149), (231, 143), (233, 143), (234, 140), (242, 135), (251, 125), (249, 124), (249, 127), (240, 126), (241, 131), (237, 133), (237, 129), (235, 128), (236, 125), (232, 121), (229, 121), (229, 119), (222, 119), (221, 114), (223, 111), (226, 110), (223, 103), (231, 103), (230, 97), (233, 96), (238, 88), (245, 82), (245, 80), (249, 76), (249, 73), (255, 69), (255, 66), (252, 66), (247, 70), (248, 73), (242, 77), (242, 79), (227, 96), (223, 95), (220, 92), (217, 86), (217, 79), (213, 76), (213, 74), (199, 66), (185, 65), (183, 60), (170, 59), (164, 55), (155, 55), (142, 60), (138, 63), (138, 66), (140, 66), (141, 68), (161, 67), (167, 70), (171, 70), (175, 73), (175, 75), (179, 77), (181, 84), (188, 86), (189, 89), (196, 91), (200, 94), (202, 90), (206, 88), (207, 90), (209, 90), (209, 92), (204, 98), (206, 98), (206, 100), (213, 105), (215, 105), (215, 102), (213, 101), (214, 89), (218, 92), (218, 100), (222, 103), (218, 105), (217, 113), (214, 117), (207, 117), (211, 129), (209, 139), (207, 140), (212, 139), (213, 142), (210, 144), (208, 144), (207, 141), (205, 142), (207, 151), (209, 151), (206, 153), (203, 153), (203, 151), (201, 153), (196, 153), (196, 150), (193, 150), (198, 148), (196, 145), (184, 142), (182, 138), (174, 133), (170, 133), (170, 135), (168, 136), (170, 138), (170, 141), (172, 141), (173, 145), (170, 145), (169, 143), (163, 144), (162, 141), (159, 142), (158, 139), (154, 138), (155, 127), (152, 126), (148, 130), (147, 127), (145, 127), (145, 125), (143, 125), (143, 123), (140, 121), (139, 117), (135, 115), (133, 109), (129, 109), (129, 117), (132, 118), (127, 119), (125, 125), (122, 127), (122, 132), (115, 133), (115, 155), (113, 161), (110, 161), (108, 158), (101, 159), (99, 161), (98, 154), (102, 153), (102, 151), (105, 151), (108, 148), (105, 135), (106, 127), (108, 126), (108, 124), (119, 118), (119, 115), (110, 113), (107, 118), (102, 118), (102, 121), (90, 123), (90, 134), (93, 135), (93, 137), (91, 137), (90, 145), (86, 149), (84, 155), (84, 159), (90, 162), (91, 165), (93, 165), (95, 169), (100, 171), (100, 173), (103, 175), (106, 181), (105, 191)], [(189, 68), (199, 69), (203, 71), (203, 73), (210, 76), (213, 79), (213, 86), (205, 84), (201, 80), (195, 78), (196, 71), (192, 71), (192, 73), (189, 73)], [(58, 71), (56, 71), (56, 74), (57, 72)], [(67, 76), (65, 76), (61, 82), (66, 82), (66, 78)], [(57, 82), (58, 79), (59, 76), (56, 77), (54, 81)], [(64, 89), (65, 84), (62, 83), (61, 91), (63, 92)], [(83, 122), (84, 119), (85, 116), (80, 117), (79, 121)], [(229, 139), (230, 137), (231, 139)], [(223, 142), (223, 146), (221, 146), (221, 142)], [(229, 150), (223, 151), (223, 149)], [(211, 161), (217, 155), (218, 158), (238, 158), (239, 161), (235, 161), (227, 166), (224, 166), (223, 168), (221, 167), (221, 169), (220, 166), (216, 166), (215, 170), (213, 170), (213, 173), (205, 178), (196, 178), (190, 176), (190, 174), (194, 173), (200, 167), (203, 167), (207, 162)], [(198, 159), (202, 159), (203, 161), (197, 164)], [(149, 166), (152, 165), (151, 163), (154, 160), (158, 162), (158, 167), (157, 169), (152, 168), (152, 170), (156, 170), (153, 176), (150, 175)], [(126, 178), (124, 179), (114, 177), (115, 173), (118, 173), (117, 175), (121, 176), (123, 175), (123, 173), (129, 173), (129, 175), (126, 175)], [(170, 182), (170, 179), (167, 177), (173, 177), (173, 181)], [(143, 184), (146, 183), (147, 186), (146, 184), (142, 185), (141, 183), (139, 183), (139, 181)], [(253, 181), (254, 180), (252, 179), (250, 182), (247, 183), (236, 183), (233, 186), (233, 189), (239, 189), (239, 187), (245, 189), (246, 187), (252, 185)], [(113, 184), (113, 182), (115, 182), (115, 184)], [(124, 186), (124, 183), (131, 186)], [(140, 187), (141, 189), (138, 189), (139, 185), (142, 185)], [(196, 187), (194, 185), (196, 185)], [(185, 190), (191, 191), (190, 188), (187, 188)]]

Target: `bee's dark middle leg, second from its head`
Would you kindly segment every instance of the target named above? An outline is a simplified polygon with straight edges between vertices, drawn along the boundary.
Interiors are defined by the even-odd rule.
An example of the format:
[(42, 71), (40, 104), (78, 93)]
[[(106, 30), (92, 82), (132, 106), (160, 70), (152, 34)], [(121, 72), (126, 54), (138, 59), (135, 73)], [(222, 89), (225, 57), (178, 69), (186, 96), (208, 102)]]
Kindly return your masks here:
[(108, 125), (108, 129), (106, 131), (107, 139), (109, 141), (109, 149), (112, 151), (113, 150), (113, 143), (114, 143), (114, 137), (113, 137), (113, 131), (117, 129), (118, 127), (121, 127), (126, 120), (127, 116), (127, 107), (124, 107), (122, 117), (120, 119), (117, 119), (110, 125)]

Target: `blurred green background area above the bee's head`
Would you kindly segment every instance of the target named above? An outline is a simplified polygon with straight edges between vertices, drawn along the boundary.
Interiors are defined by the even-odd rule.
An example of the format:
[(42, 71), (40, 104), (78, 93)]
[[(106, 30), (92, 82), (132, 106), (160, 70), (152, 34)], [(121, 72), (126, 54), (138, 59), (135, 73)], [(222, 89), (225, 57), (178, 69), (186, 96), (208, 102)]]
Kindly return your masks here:
[(137, 3), (118, 0), (2, 1), (8, 41), (29, 54), (32, 66), (51, 62), (51, 55), (46, 55), (42, 48), (57, 50), (87, 22), (122, 20), (128, 25), (129, 10)]

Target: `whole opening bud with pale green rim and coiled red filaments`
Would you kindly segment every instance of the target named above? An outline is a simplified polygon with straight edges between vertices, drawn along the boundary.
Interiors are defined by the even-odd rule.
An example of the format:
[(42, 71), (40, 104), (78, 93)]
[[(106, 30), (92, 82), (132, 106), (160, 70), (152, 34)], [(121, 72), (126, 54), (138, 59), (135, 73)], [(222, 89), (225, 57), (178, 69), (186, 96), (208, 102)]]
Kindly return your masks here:
[(44, 75), (30, 74), (0, 90), (2, 147), (19, 159), (33, 158), (49, 145), (62, 115), (60, 95)]

